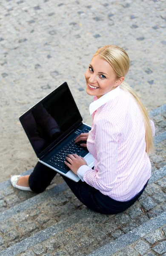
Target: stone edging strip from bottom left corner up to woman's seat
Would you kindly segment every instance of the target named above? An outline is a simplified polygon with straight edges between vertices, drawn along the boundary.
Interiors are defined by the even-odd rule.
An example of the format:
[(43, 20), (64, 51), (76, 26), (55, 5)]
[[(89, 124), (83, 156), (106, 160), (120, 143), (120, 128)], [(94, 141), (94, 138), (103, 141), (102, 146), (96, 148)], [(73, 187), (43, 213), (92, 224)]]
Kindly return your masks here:
[(73, 224), (76, 224), (84, 218), (87, 218), (90, 214), (91, 211), (89, 209), (83, 209), (79, 212), (76, 212), (75, 214), (67, 217), (66, 219), (63, 219), (62, 221), (59, 221), (58, 223), (46, 228), (45, 230), (42, 230), (34, 234), (33, 236), (30, 236), (18, 242), (17, 244), (14, 244), (13, 246), (3, 250), (2, 252), (0, 252), (0, 256), (15, 256), (18, 253), (22, 253), (23, 251), (33, 247), (34, 245), (41, 243), (46, 239), (50, 238), (51, 236), (54, 236), (57, 233), (71, 227)]

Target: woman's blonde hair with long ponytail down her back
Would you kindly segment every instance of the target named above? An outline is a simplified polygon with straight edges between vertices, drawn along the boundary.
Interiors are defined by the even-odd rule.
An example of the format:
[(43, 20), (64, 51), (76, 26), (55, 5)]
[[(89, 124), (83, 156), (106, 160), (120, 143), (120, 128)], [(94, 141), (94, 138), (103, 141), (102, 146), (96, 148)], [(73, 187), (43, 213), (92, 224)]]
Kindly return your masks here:
[[(116, 45), (106, 45), (104, 47), (99, 48), (97, 52), (94, 54), (94, 56), (96, 55), (99, 55), (100, 58), (103, 58), (112, 66), (117, 76), (117, 79), (126, 76), (129, 70), (130, 60), (125, 50)], [(153, 151), (153, 136), (148, 112), (146, 111), (146, 108), (143, 105), (143, 103), (140, 101), (139, 96), (137, 95), (135, 90), (133, 90), (132, 87), (129, 86), (129, 84), (123, 81), (120, 84), (120, 88), (131, 93), (135, 97), (137, 104), (139, 105), (140, 111), (143, 116), (143, 122), (146, 131), (146, 153), (149, 155), (149, 153)]]

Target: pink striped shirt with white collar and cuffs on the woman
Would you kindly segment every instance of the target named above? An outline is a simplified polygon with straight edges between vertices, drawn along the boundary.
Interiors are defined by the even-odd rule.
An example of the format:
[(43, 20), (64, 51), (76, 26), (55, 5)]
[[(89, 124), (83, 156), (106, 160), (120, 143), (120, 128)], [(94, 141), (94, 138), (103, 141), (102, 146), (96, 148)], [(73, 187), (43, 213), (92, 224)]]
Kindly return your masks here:
[[(140, 108), (131, 93), (118, 86), (89, 106), (93, 124), (87, 148), (94, 170), (83, 165), (82, 181), (117, 201), (129, 201), (146, 184), (151, 163), (146, 154), (145, 128)], [(153, 136), (155, 125), (151, 120)]]

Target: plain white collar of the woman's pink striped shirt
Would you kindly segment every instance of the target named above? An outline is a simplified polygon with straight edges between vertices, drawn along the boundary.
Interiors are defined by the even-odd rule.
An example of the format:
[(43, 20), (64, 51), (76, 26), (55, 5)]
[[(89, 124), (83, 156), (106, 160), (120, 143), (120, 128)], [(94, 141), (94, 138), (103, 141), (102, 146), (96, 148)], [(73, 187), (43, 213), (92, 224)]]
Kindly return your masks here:
[(102, 105), (107, 103), (109, 100), (114, 99), (117, 96), (119, 96), (119, 94), (120, 94), (120, 86), (118, 85), (117, 88), (115, 88), (114, 90), (111, 90), (109, 93), (104, 94), (99, 99), (97, 99), (94, 102), (92, 102), (89, 105), (90, 115), (92, 115), (92, 113), (94, 111), (96, 111), (97, 108), (100, 108)]

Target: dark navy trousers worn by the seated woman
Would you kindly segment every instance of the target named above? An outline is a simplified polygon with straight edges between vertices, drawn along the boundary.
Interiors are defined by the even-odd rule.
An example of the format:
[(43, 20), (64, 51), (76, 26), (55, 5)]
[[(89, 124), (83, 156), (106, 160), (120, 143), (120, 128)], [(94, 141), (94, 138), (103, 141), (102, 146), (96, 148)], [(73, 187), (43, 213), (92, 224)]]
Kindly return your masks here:
[[(34, 167), (34, 171), (29, 177), (29, 186), (32, 191), (40, 193), (43, 192), (47, 186), (51, 183), (54, 176), (57, 174), (54, 170), (43, 165), (42, 163), (37, 163)], [(95, 212), (100, 212), (103, 214), (116, 214), (123, 212), (132, 204), (137, 201), (140, 195), (143, 193), (143, 190), (146, 188), (147, 183), (143, 189), (131, 200), (126, 202), (116, 201), (110, 198), (107, 195), (103, 195), (99, 190), (88, 185), (86, 182), (74, 182), (69, 178), (63, 176), (63, 179), (66, 181), (69, 188), (72, 190), (74, 195), (89, 209), (94, 210)]]

